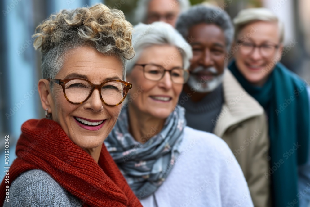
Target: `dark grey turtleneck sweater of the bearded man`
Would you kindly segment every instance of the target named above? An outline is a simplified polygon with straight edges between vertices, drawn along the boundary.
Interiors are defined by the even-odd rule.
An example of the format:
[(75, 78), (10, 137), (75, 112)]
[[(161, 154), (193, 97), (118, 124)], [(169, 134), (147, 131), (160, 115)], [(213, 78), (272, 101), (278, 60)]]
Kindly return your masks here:
[(214, 91), (207, 94), (198, 102), (193, 102), (191, 98), (187, 100), (186, 97), (188, 98), (187, 93), (182, 92), (179, 98), (179, 104), (186, 110), (185, 118), (187, 125), (194, 129), (212, 133), (215, 127), (215, 121), (213, 121), (213, 124), (212, 119), (216, 120), (224, 102), (223, 85), (220, 84)]

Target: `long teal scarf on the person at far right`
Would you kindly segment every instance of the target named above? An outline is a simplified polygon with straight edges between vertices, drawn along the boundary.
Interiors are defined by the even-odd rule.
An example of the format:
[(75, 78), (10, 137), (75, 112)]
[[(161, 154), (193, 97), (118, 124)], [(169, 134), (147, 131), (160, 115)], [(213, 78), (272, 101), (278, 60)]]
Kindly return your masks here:
[[(277, 63), (262, 87), (251, 85), (229, 65), (243, 88), (265, 109), (269, 119), (270, 168), (275, 207), (287, 206), (297, 198), (298, 165), (305, 164), (309, 149), (309, 98), (306, 83), (284, 65)], [(298, 205), (295, 205), (298, 206)]]

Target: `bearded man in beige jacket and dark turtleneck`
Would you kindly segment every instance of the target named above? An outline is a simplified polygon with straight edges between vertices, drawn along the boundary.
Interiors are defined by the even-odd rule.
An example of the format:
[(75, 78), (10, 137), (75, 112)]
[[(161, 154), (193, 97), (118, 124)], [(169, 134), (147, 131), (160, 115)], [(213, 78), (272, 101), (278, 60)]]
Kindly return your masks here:
[(234, 34), (230, 17), (220, 7), (197, 5), (179, 16), (176, 29), (191, 40), (193, 51), (190, 78), (179, 97), (188, 126), (222, 137), (241, 166), (254, 206), (270, 206), (266, 118), (227, 70)]

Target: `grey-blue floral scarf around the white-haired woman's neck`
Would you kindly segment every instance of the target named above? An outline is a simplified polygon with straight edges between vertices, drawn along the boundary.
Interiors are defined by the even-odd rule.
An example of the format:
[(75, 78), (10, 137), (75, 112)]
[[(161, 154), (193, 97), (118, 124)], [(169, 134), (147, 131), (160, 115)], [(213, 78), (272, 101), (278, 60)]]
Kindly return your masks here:
[[(177, 106), (162, 131), (152, 128), (143, 144), (128, 131), (128, 109), (124, 107), (115, 127), (104, 141), (135, 195), (141, 199), (154, 193), (169, 175), (180, 154), (186, 126), (184, 108)], [(154, 135), (157, 133), (156, 135)]]

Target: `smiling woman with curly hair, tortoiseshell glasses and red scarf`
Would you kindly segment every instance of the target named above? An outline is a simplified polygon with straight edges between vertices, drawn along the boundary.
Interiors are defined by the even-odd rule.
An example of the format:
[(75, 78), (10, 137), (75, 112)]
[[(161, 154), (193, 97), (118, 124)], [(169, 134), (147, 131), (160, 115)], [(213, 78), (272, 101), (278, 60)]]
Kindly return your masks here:
[(1, 206), (141, 206), (102, 144), (132, 87), (124, 81), (131, 30), (122, 11), (103, 4), (60, 11), (37, 27), (47, 119), (22, 125)]

